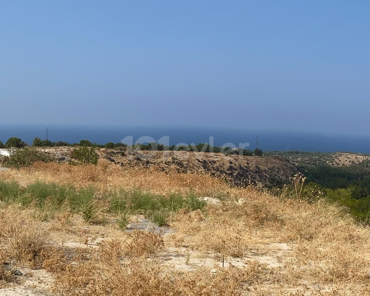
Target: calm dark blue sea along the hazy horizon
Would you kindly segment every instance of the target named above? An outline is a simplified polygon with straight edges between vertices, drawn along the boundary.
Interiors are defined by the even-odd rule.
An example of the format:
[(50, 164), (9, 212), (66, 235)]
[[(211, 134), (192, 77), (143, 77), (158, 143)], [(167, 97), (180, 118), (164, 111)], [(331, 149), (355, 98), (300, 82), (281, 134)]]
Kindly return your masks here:
[[(93, 127), (93, 126), (48, 126), (48, 138), (51, 141), (79, 142), (88, 139), (91, 142), (105, 144), (106, 142), (120, 142), (132, 136), (133, 142), (140, 137), (151, 137), (158, 141), (162, 137), (169, 137), (169, 144), (198, 144), (209, 143), (213, 137), (213, 144), (221, 146), (233, 143), (249, 142), (249, 149), (258, 147), (264, 151), (290, 150), (336, 152), (350, 151), (369, 153), (369, 135), (323, 135), (297, 132), (250, 131), (242, 129), (217, 128), (181, 128), (181, 127)], [(46, 138), (46, 126), (36, 125), (0, 125), (0, 141), (3, 143), (10, 137), (19, 137), (32, 144), (35, 137)], [(127, 141), (126, 141), (127, 142)], [(144, 142), (144, 141), (139, 141)], [(229, 145), (231, 146), (231, 145)]]

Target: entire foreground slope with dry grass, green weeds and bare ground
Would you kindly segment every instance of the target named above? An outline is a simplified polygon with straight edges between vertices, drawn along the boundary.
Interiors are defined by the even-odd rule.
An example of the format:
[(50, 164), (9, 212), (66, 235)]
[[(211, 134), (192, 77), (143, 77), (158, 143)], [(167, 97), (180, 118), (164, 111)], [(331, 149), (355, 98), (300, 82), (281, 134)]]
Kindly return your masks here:
[(344, 209), (177, 167), (0, 171), (0, 295), (369, 295), (369, 229)]

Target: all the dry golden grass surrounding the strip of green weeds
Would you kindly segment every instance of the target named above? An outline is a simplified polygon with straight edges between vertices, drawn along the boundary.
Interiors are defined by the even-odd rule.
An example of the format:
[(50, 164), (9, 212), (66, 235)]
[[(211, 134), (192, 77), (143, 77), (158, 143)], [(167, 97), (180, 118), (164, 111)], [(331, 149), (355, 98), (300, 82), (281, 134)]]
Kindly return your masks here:
[[(1, 247), (16, 249), (9, 251), (7, 258), (34, 266), (41, 264), (53, 271), (55, 295), (303, 296), (370, 292), (369, 228), (357, 225), (340, 206), (323, 200), (309, 203), (253, 188), (230, 188), (208, 175), (122, 170), (107, 162), (83, 167), (37, 164), (3, 172), (0, 178), (23, 186), (42, 180), (81, 187), (92, 185), (101, 191), (138, 186), (164, 195), (190, 188), (199, 195), (222, 195), (224, 199), (221, 205), (208, 205), (205, 211), (183, 209), (172, 215), (169, 224), (177, 232), (165, 236), (125, 233), (109, 222), (76, 222), (81, 219), (69, 212), (57, 213), (46, 223), (40, 221), (43, 215), (32, 206), (3, 206)], [(92, 242), (97, 236), (105, 240), (94, 248), (86, 242), (86, 248), (64, 248), (61, 253), (55, 247), (67, 238)], [(286, 249), (277, 249), (274, 243)], [(198, 266), (184, 271), (164, 264), (161, 254), (170, 247), (196, 250), (209, 260), (225, 256), (246, 263), (239, 268)], [(64, 256), (68, 252), (74, 255)], [(0, 259), (1, 254), (4, 258), (1, 251)], [(71, 264), (71, 258), (77, 258), (77, 263)], [(277, 263), (263, 263), (266, 258), (276, 259)]]

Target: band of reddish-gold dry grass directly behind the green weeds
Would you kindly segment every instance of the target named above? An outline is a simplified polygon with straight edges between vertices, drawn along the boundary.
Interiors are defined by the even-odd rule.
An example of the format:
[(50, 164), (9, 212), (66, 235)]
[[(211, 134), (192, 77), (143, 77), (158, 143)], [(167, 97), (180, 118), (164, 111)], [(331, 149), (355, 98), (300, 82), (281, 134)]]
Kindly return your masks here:
[(22, 186), (39, 180), (82, 187), (91, 185), (101, 191), (137, 186), (154, 193), (168, 194), (170, 191), (183, 192), (192, 188), (202, 194), (214, 194), (228, 189), (225, 182), (206, 174), (166, 174), (155, 169), (122, 169), (104, 159), (100, 159), (97, 166), (38, 163), (29, 168), (2, 172), (1, 178), (17, 181)]

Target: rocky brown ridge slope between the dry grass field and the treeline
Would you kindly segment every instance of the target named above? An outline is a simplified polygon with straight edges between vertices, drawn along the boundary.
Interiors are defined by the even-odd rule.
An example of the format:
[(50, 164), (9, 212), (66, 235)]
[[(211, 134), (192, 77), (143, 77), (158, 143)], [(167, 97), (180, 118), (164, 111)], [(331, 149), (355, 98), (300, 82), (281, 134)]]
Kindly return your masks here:
[[(59, 162), (68, 162), (73, 148), (40, 149)], [(154, 168), (163, 172), (209, 174), (236, 186), (286, 184), (298, 172), (280, 157), (223, 155), (183, 151), (127, 151), (96, 149), (100, 159), (124, 168)]]

